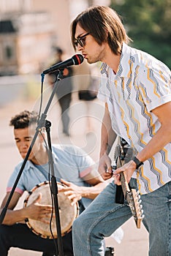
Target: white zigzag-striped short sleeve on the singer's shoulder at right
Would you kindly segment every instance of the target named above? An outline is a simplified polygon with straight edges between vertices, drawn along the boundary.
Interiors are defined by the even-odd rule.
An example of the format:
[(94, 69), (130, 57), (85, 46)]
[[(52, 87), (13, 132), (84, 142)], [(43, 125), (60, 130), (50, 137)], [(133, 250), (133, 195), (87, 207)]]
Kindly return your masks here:
[(140, 92), (149, 112), (170, 102), (170, 69), (161, 61), (146, 64), (140, 75)]

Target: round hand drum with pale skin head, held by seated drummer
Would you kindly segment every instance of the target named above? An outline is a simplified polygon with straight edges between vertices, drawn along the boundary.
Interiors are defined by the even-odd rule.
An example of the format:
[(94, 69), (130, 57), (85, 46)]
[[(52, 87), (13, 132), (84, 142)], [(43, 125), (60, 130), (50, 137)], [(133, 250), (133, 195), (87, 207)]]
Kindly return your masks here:
[[(62, 184), (58, 183), (58, 188), (64, 187)], [(33, 203), (34, 200), (37, 199), (39, 193), (42, 194), (42, 199), (40, 200), (39, 204), (41, 205), (50, 205), (52, 206), (52, 196), (50, 193), (50, 184), (49, 182), (45, 181), (28, 192), (28, 196), (24, 200), (24, 207), (29, 206)], [(58, 192), (58, 209), (59, 209), (59, 217), (61, 223), (61, 236), (64, 236), (66, 233), (72, 229), (72, 223), (77, 218), (79, 214), (79, 207), (78, 203), (74, 206), (71, 206), (71, 201), (69, 200), (64, 192)], [(50, 222), (50, 218), (45, 218)], [(55, 209), (53, 210), (53, 218), (51, 222), (51, 230), (50, 232), (50, 225), (44, 222), (40, 222), (35, 219), (26, 219), (26, 224), (30, 228), (32, 232), (37, 234), (37, 236), (41, 236), (42, 238), (57, 238), (57, 230), (56, 230), (56, 218), (55, 218)]]

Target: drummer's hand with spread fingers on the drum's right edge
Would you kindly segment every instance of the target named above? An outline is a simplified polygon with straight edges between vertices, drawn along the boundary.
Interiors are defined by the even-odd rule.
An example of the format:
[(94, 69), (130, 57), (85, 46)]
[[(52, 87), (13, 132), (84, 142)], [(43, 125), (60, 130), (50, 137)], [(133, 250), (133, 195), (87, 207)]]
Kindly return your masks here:
[(61, 178), (61, 183), (66, 187), (58, 189), (58, 192), (64, 192), (64, 195), (66, 195), (69, 200), (71, 200), (71, 205), (73, 206), (82, 197), (80, 187), (73, 184), (72, 182), (65, 181), (63, 178)]

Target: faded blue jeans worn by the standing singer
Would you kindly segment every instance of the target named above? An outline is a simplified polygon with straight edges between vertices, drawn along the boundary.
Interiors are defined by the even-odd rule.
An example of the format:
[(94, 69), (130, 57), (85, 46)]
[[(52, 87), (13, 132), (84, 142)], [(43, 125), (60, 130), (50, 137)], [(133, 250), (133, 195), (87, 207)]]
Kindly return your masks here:
[[(130, 184), (136, 184), (136, 179)], [(131, 186), (132, 186), (131, 184)], [(126, 201), (115, 203), (116, 186), (112, 182), (91, 203), (72, 226), (75, 256), (104, 255), (102, 240), (110, 236), (132, 213)], [(171, 181), (163, 187), (142, 195), (145, 217), (143, 224), (149, 233), (149, 256), (171, 255)]]

